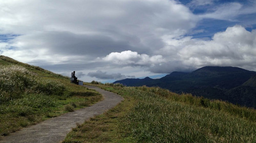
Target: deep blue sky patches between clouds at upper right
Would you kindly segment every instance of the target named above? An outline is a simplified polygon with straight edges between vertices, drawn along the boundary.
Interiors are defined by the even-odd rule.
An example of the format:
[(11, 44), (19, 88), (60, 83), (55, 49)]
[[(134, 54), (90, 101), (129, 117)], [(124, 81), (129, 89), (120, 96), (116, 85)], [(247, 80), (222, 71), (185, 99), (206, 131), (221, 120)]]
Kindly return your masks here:
[[(243, 5), (243, 7), (246, 9), (247, 7), (251, 7), (251, 5), (255, 6), (255, 1), (243, 1), (243, 0), (237, 0), (237, 1), (220, 1), (220, 0), (213, 0), (213, 1), (207, 1), (204, 0), (202, 2), (205, 2), (205, 5), (192, 5), (191, 3), (193, 1), (179, 1), (181, 4), (187, 6), (191, 12), (193, 12), (196, 15), (205, 14), (214, 12), (215, 9), (222, 5), (228, 5), (230, 3), (238, 3)], [(196, 1), (195, 1), (196, 2)], [(198, 1), (200, 2), (200, 1)], [(208, 4), (207, 4), (208, 2)], [(197, 23), (197, 26), (194, 30), (201, 30), (203, 29), (204, 32), (197, 33), (197, 34), (191, 34), (194, 38), (202, 38), (202, 37), (208, 37), (211, 38), (214, 36), (215, 33), (225, 31), (227, 27), (232, 27), (235, 25), (241, 25), (246, 28), (246, 30), (250, 31), (252, 29), (256, 28), (256, 13), (251, 14), (241, 14), (235, 16), (233, 19), (214, 19), (214, 18), (205, 18), (200, 20)]]

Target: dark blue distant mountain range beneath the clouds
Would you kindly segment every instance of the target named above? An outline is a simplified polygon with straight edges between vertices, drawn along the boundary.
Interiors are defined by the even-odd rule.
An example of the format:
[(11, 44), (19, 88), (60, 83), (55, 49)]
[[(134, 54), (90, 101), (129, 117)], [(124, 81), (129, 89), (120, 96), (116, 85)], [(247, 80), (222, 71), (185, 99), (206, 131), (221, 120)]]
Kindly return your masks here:
[(170, 91), (192, 93), (208, 99), (256, 108), (256, 72), (239, 67), (205, 66), (191, 73), (174, 71), (160, 79), (124, 79), (126, 86), (159, 86)]

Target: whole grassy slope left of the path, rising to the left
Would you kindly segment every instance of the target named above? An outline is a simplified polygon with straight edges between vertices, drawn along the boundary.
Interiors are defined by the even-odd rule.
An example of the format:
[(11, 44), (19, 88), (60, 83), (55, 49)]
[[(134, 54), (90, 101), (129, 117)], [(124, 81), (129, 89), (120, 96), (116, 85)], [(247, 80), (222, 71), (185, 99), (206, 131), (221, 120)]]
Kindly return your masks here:
[(96, 91), (71, 84), (68, 77), (5, 56), (0, 56), (0, 68), (0, 135), (102, 99)]

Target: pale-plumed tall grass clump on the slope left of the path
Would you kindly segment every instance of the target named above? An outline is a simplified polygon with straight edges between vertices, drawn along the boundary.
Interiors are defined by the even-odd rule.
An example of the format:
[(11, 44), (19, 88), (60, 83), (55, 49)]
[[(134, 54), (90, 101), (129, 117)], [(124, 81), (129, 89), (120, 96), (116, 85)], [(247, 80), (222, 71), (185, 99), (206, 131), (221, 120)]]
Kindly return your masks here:
[(40, 79), (22, 66), (0, 66), (0, 73), (0, 104), (22, 98), (27, 93), (59, 95), (65, 91), (63, 84)]

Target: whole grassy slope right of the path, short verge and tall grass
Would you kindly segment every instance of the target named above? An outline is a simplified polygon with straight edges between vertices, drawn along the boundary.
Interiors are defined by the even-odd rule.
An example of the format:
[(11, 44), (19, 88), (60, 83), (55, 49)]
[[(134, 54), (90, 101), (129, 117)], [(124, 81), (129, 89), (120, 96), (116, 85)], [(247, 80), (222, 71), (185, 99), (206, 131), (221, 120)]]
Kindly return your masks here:
[(124, 101), (63, 142), (256, 142), (256, 111), (156, 87), (104, 86)]

